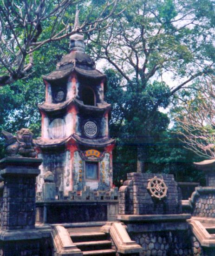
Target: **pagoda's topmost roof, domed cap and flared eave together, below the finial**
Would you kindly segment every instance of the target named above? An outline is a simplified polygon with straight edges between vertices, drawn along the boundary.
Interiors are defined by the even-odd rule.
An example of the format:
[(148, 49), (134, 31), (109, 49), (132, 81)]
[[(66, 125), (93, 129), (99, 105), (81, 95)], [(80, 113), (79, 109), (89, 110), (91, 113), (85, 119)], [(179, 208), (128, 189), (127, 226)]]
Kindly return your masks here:
[(46, 81), (61, 80), (76, 72), (81, 76), (102, 79), (106, 77), (95, 68), (95, 62), (92, 61), (91, 57), (82, 52), (71, 52), (66, 54), (62, 60), (57, 64), (57, 69), (48, 75), (44, 75), (43, 79)]

